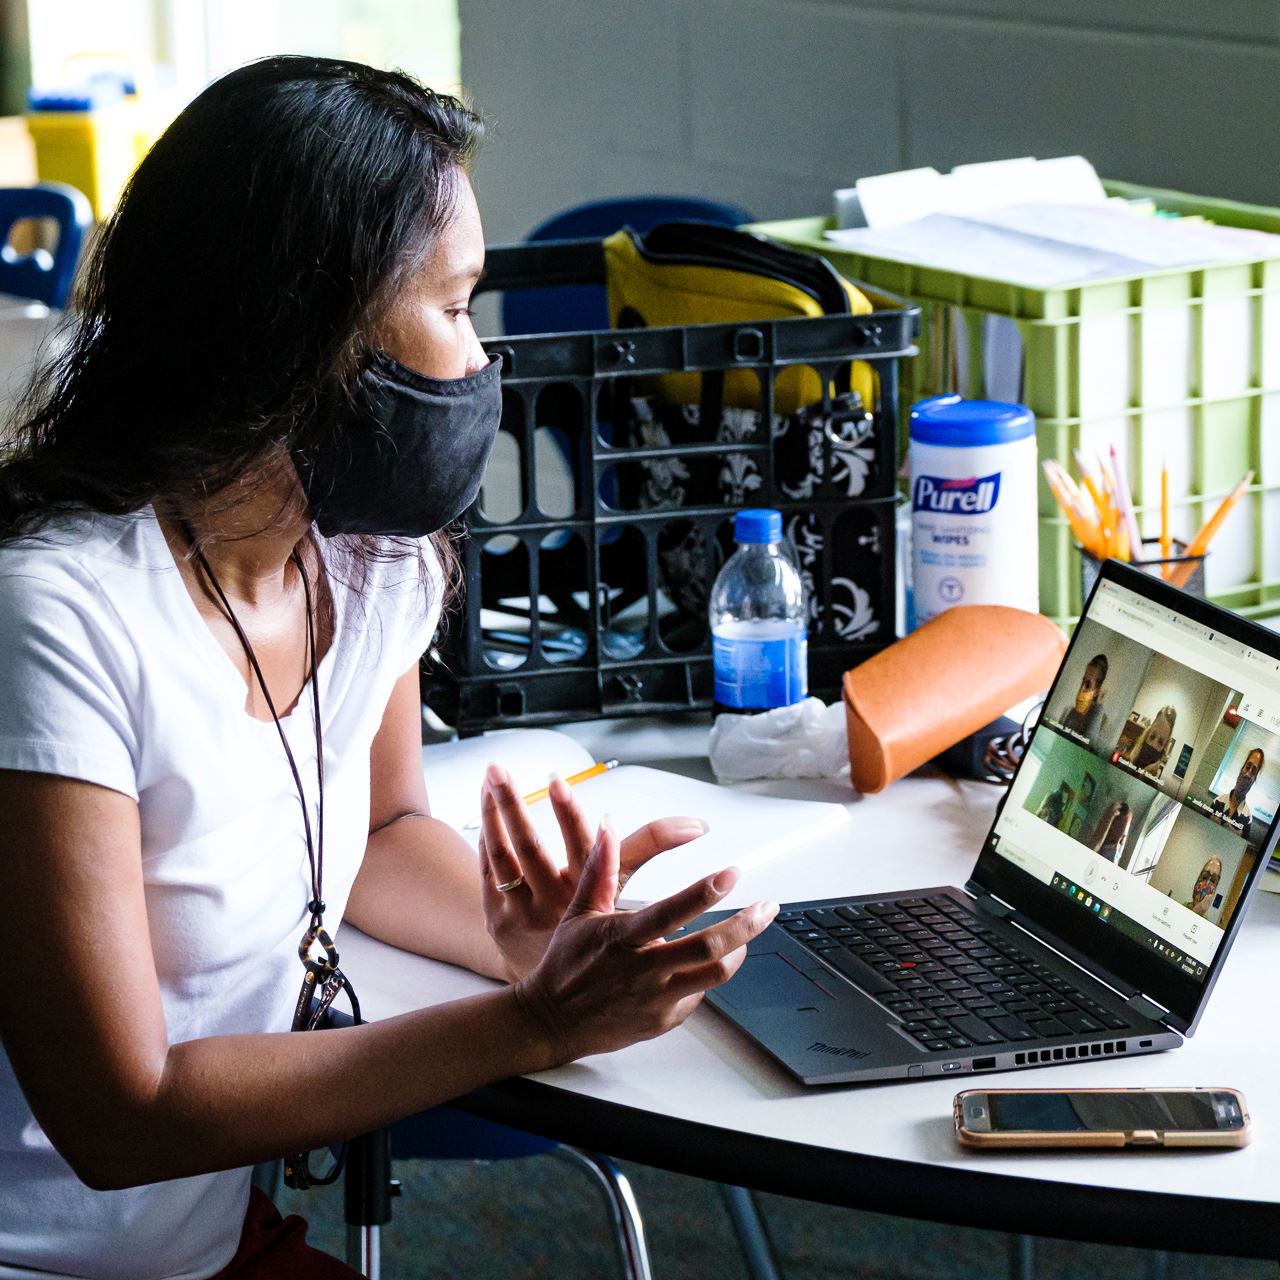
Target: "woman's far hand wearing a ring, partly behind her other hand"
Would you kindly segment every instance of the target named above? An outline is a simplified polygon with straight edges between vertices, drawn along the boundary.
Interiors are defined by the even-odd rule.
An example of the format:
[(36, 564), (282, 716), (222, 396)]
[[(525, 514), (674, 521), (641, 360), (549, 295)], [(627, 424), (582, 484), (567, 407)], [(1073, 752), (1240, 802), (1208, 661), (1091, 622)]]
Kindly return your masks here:
[[(480, 879), (485, 920), (512, 980), (524, 978), (543, 957), (591, 852), (588, 827), (572, 787), (554, 778), (549, 788), (568, 863), (557, 867), (529, 819), (511, 774), (490, 764), (480, 788)], [(622, 841), (618, 891), (655, 854), (687, 845), (704, 835), (698, 818), (658, 818)], [(502, 891), (499, 884), (518, 882)]]

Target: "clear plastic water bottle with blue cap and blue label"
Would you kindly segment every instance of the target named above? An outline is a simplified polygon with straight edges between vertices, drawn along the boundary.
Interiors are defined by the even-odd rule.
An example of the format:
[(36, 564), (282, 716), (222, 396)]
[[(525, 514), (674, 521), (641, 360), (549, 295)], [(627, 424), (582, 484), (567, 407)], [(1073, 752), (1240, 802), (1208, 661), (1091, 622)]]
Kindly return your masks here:
[(804, 584), (782, 549), (782, 516), (740, 511), (737, 550), (716, 576), (710, 598), (716, 710), (790, 707), (809, 692)]

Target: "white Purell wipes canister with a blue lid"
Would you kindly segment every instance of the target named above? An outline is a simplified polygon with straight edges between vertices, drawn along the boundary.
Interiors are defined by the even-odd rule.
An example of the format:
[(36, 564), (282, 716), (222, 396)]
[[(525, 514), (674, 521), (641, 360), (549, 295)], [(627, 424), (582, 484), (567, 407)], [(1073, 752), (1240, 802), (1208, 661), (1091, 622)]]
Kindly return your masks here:
[(914, 623), (952, 604), (1039, 612), (1036, 416), (934, 396), (911, 408)]

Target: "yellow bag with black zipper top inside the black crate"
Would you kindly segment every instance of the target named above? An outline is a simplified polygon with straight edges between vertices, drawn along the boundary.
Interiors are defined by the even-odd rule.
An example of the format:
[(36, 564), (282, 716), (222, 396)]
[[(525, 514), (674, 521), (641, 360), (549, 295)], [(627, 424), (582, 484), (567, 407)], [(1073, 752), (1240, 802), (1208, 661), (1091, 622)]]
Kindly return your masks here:
[[(691, 324), (744, 324), (796, 316), (867, 315), (865, 294), (823, 257), (786, 248), (748, 232), (710, 223), (662, 223), (640, 234), (630, 228), (604, 241), (609, 323), (614, 329)], [(856, 361), (847, 385), (874, 411), (877, 378)], [(696, 403), (699, 374), (663, 374), (655, 392), (671, 403)], [(790, 416), (822, 399), (822, 380), (808, 365), (791, 365), (774, 380), (774, 412)], [(724, 374), (723, 404), (759, 408), (760, 384), (749, 369)]]

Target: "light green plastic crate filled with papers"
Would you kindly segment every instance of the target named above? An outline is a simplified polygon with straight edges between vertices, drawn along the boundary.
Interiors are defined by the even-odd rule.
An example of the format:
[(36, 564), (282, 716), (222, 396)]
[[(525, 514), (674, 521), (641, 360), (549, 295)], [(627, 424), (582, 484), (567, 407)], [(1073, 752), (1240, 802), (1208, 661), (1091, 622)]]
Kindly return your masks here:
[[(1105, 186), (1184, 216), (1280, 233), (1280, 209)], [(1213, 540), (1208, 591), (1240, 613), (1280, 613), (1280, 246), (1254, 261), (1030, 289), (851, 252), (824, 238), (833, 225), (800, 218), (753, 229), (920, 306), (920, 353), (902, 366), (904, 443), (915, 401), (987, 394), (984, 356), (1016, 355), (1009, 339), (1016, 330), (1021, 398), (1036, 413), (1041, 457), (1070, 463), (1074, 448), (1115, 444), (1146, 535), (1160, 531), (1164, 461), (1172, 531), (1183, 538), (1253, 468), (1249, 493)], [(1043, 480), (1039, 511), (1041, 611), (1070, 623), (1080, 611), (1079, 557)]]

